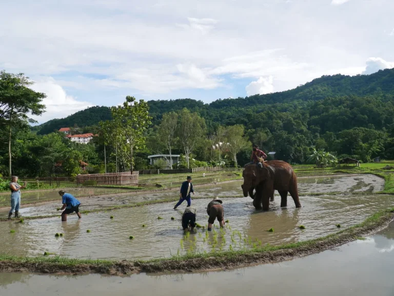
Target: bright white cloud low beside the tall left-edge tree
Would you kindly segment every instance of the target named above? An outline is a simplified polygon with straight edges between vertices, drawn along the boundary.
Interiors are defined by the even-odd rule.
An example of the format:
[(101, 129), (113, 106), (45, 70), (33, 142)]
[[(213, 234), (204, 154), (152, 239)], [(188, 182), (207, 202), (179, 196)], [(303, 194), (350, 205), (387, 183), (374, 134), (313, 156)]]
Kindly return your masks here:
[(43, 99), (46, 106), (46, 112), (42, 116), (32, 116), (39, 123), (46, 122), (52, 118), (64, 118), (77, 111), (93, 106), (89, 102), (77, 101), (72, 96), (66, 94), (66, 91), (53, 78), (44, 78), (31, 86), (35, 91), (40, 91), (47, 95)]

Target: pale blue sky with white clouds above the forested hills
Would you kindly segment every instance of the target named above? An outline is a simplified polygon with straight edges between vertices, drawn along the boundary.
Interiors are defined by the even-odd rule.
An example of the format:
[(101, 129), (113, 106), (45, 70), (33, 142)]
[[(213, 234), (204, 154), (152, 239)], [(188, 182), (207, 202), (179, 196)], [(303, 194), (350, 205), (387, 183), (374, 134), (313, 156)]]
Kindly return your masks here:
[(128, 95), (209, 103), (394, 67), (392, 0), (18, 0), (0, 11), (0, 69), (47, 95), (39, 123)]

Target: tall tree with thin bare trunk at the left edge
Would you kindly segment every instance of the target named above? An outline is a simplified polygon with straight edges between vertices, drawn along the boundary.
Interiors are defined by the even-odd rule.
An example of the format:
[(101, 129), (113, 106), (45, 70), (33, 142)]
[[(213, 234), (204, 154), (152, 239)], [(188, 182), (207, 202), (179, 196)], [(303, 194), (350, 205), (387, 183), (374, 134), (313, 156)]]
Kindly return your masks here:
[(30, 89), (28, 86), (32, 84), (23, 73), (14, 75), (0, 71), (0, 123), (8, 126), (9, 176), (12, 175), (12, 128), (36, 122), (28, 114), (41, 115), (45, 109), (41, 102), (46, 95)]

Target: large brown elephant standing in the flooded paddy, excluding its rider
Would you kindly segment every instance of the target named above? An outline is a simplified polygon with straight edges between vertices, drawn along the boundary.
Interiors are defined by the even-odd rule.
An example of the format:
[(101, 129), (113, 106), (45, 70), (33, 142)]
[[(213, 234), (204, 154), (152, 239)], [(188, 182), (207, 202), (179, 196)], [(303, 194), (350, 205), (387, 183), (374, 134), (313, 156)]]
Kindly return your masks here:
[[(291, 165), (281, 160), (271, 160), (262, 163), (262, 167), (255, 163), (245, 165), (242, 173), (244, 196), (253, 198), (253, 206), (257, 210), (268, 210), (269, 200), (273, 200), (273, 193), (278, 190), (281, 195), (281, 207), (287, 206), (287, 193), (290, 193), (296, 208), (301, 208), (298, 196), (297, 176)], [(255, 193), (253, 195), (253, 189)]]

